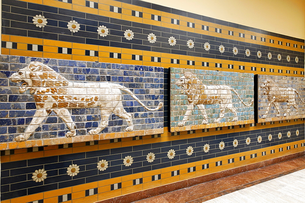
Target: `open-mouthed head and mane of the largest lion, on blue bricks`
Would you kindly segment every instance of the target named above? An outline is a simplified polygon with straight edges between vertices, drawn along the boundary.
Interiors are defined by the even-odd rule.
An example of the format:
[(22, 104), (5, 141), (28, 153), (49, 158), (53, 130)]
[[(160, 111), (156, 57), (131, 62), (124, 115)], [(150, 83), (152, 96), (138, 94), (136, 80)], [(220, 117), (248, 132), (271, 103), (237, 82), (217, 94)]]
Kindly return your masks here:
[(30, 90), (30, 94), (33, 94), (39, 87), (68, 85), (68, 81), (65, 77), (38, 61), (30, 62), (27, 67), (13, 73), (9, 79), (12, 82), (19, 83), (20, 93)]

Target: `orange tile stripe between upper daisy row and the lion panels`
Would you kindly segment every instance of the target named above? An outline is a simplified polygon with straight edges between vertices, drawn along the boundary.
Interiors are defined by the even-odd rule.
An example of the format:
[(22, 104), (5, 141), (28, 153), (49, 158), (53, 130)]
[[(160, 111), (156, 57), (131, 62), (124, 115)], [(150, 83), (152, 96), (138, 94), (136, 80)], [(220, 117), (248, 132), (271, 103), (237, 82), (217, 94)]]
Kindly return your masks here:
[[(158, 67), (179, 67), (179, 68), (195, 68), (201, 70), (217, 70), (217, 71), (232, 71), (232, 72), (248, 72), (253, 74), (267, 74), (267, 75), (286, 75), (286, 76), (297, 76), (304, 77), (301, 74), (301, 71), (304, 71), (303, 68), (295, 67), (285, 67), (285, 66), (276, 66), (268, 64), (257, 64), (241, 61), (232, 61), (232, 60), (221, 60), (213, 58), (204, 58), (204, 57), (192, 57), (184, 56), (178, 54), (170, 53), (159, 53), (152, 51), (142, 51), (142, 50), (133, 50), (117, 47), (108, 47), (108, 46), (98, 46), (98, 45), (87, 45), (80, 43), (67, 43), (57, 40), (42, 40), (38, 38), (30, 38), (23, 36), (9, 36), (2, 35), (2, 41), (16, 42), (18, 43), (19, 49), (7, 49), (2, 48), (2, 54), (7, 55), (16, 55), (16, 56), (31, 56), (31, 57), (44, 57), (44, 58), (58, 58), (58, 59), (67, 59), (67, 60), (84, 60), (84, 61), (99, 61), (104, 63), (118, 63), (118, 64), (133, 64), (133, 65), (144, 65), (144, 66), (158, 66)], [(37, 41), (36, 41), (37, 40)], [(34, 43), (44, 46), (44, 50), (47, 51), (29, 51), (27, 50), (27, 44)], [(72, 54), (62, 54), (57, 53), (57, 47), (72, 47)], [(84, 56), (85, 50), (95, 50), (99, 51), (99, 57)], [(109, 53), (121, 53), (121, 59), (109, 58)], [(143, 60), (132, 60), (132, 54), (143, 56)], [(151, 57), (161, 57), (161, 63), (152, 62)], [(179, 59), (180, 64), (171, 64), (171, 59)], [(187, 60), (195, 61), (195, 65), (187, 65)], [(209, 67), (202, 66), (202, 62), (209, 62)], [(216, 64), (222, 64), (222, 68), (216, 67)], [(228, 68), (229, 65), (234, 65), (234, 69)], [(244, 66), (245, 70), (239, 70), (238, 66)], [(252, 71), (251, 67), (256, 67), (257, 71)], [(265, 71), (261, 71), (261, 68), (265, 68)], [(273, 72), (270, 72), (273, 70)], [(282, 73), (280, 73), (282, 71)], [(288, 72), (287, 72), (288, 71)], [(294, 74), (293, 71), (297, 71), (297, 74)]]

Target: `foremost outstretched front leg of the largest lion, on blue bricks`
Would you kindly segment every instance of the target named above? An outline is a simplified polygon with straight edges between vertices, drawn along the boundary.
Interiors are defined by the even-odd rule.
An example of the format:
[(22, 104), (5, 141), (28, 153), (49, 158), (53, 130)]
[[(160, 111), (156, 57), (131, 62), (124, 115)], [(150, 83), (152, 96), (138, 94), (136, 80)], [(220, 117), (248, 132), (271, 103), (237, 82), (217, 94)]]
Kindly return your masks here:
[(41, 124), (41, 122), (43, 120), (45, 120), (45, 118), (49, 114), (50, 113), (48, 113), (46, 111), (46, 109), (37, 109), (34, 116), (33, 116), (33, 119), (31, 121), (30, 125), (27, 126), (27, 129), (25, 129), (25, 132), (22, 135), (19, 135), (19, 136), (15, 137), (14, 141), (20, 142), (20, 141), (25, 141), (25, 140), (29, 139), (31, 134), (33, 132), (35, 132), (36, 128), (38, 128), (38, 126)]

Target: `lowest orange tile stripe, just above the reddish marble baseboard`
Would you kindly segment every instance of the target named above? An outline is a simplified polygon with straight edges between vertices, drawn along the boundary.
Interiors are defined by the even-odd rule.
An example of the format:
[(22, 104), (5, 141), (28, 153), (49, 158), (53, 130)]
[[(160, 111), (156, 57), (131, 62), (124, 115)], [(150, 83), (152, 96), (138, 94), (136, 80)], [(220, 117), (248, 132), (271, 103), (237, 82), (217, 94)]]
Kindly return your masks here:
[[(47, 191), (43, 193), (13, 198), (10, 200), (2, 201), (4, 203), (13, 203), (13, 202), (29, 202), (44, 199), (44, 202), (55, 202), (59, 195), (72, 193), (72, 201), (70, 202), (94, 202), (101, 201), (113, 197), (117, 197), (124, 194), (129, 194), (136, 191), (146, 190), (149, 188), (154, 188), (194, 177), (203, 176), (206, 174), (212, 174), (222, 170), (228, 170), (235, 167), (245, 166), (251, 163), (257, 163), (264, 160), (273, 159), (276, 157), (282, 157), (285, 155), (301, 152), (305, 150), (305, 147), (301, 146), (304, 140), (285, 143), (281, 145), (266, 147), (263, 149), (251, 150), (243, 153), (236, 153), (232, 155), (227, 155), (223, 157), (217, 157), (209, 160), (202, 160), (193, 163), (182, 164), (173, 167), (162, 168), (158, 170), (147, 171), (138, 174), (132, 174), (117, 178), (111, 178), (102, 181), (96, 181), (87, 184), (76, 185), (73, 187), (62, 188), (53, 191)], [(297, 148), (293, 148), (294, 145), (298, 145)], [(291, 146), (290, 150), (287, 150), (286, 147)], [(283, 148), (283, 151), (279, 151), (280, 148)], [(274, 153), (270, 153), (271, 150), (274, 150)], [(265, 156), (261, 156), (261, 152), (266, 152)], [(251, 154), (257, 153), (257, 157), (250, 158)], [(240, 161), (239, 157), (245, 156), (246, 159)], [(228, 163), (228, 159), (234, 158), (234, 163)], [(216, 166), (217, 161), (222, 161), (221, 166)], [(199, 169), (203, 164), (209, 163), (209, 168)], [(188, 173), (189, 167), (195, 167), (196, 171)], [(171, 172), (174, 170), (180, 170), (180, 175), (171, 176)], [(153, 175), (161, 174), (161, 179), (157, 181), (151, 181)], [(137, 178), (143, 178), (143, 183), (138, 185), (133, 185), (133, 180)], [(115, 183), (122, 183), (122, 188), (117, 190), (110, 190), (110, 185)], [(85, 197), (85, 190), (98, 188), (98, 194)]]

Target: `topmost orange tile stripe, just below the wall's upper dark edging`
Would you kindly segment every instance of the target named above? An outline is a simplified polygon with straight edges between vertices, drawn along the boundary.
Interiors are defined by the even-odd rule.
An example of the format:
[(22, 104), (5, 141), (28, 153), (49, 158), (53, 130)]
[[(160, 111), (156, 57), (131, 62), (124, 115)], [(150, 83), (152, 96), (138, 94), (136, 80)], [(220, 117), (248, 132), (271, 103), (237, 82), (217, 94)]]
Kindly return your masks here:
[[(156, 26), (163, 26), (163, 27), (172, 28), (172, 29), (180, 29), (180, 30), (184, 30), (184, 31), (188, 31), (188, 32), (194, 32), (194, 33), (199, 33), (199, 34), (204, 34), (204, 35), (209, 35), (209, 36), (221, 37), (224, 39), (237, 40), (237, 41), (241, 41), (241, 42), (260, 44), (260, 45), (276, 47), (276, 48), (280, 48), (280, 49), (304, 52), (304, 49), (293, 47), (293, 44), (297, 44), (300, 47), (300, 45), (304, 46), (304, 43), (297, 42), (294, 40), (287, 40), (284, 38), (269, 36), (269, 35), (265, 35), (265, 34), (261, 34), (261, 33), (248, 31), (248, 30), (233, 28), (233, 27), (229, 27), (229, 26), (223, 26), (223, 25), (219, 25), (219, 24), (215, 24), (215, 23), (211, 23), (211, 22), (197, 20), (197, 19), (193, 19), (193, 18), (181, 16), (181, 15), (171, 14), (171, 13), (162, 12), (162, 11), (158, 11), (158, 10), (154, 10), (154, 9), (148, 9), (145, 7), (131, 5), (131, 4), (123, 3), (123, 2), (117, 2), (117, 1), (113, 1), (113, 0), (98, 0), (98, 1), (92, 0), (93, 2), (99, 3), (99, 9), (86, 7), (85, 0), (74, 0), (73, 4), (58, 2), (57, 0), (43, 0), (43, 1), (42, 0), (31, 0), (31, 1), (21, 0), (21, 1), (32, 2), (32, 3), (42, 4), (42, 5), (55, 6), (58, 8), (86, 12), (86, 13), (91, 13), (91, 14), (95, 14), (95, 15), (103, 15), (103, 16), (107, 16), (107, 17), (131, 21), (131, 22), (140, 22), (140, 23), (151, 24), (151, 25), (156, 25)], [(122, 8), (122, 13), (110, 12), (110, 5)], [(143, 12), (143, 18), (132, 16), (131, 15), (132, 10)], [(160, 15), (161, 21), (152, 20), (151, 14)], [(180, 25), (175, 25), (175, 24), (170, 23), (171, 19), (180, 20)], [(187, 22), (195, 23), (195, 28), (188, 27)], [(209, 26), (209, 31), (202, 30), (202, 27), (201, 27), (202, 25)], [(224, 30), (223, 31), (224, 33), (228, 33), (228, 31), (233, 31), (234, 36), (211, 31), (211, 30), (215, 30), (215, 28)], [(244, 38), (239, 37), (239, 33), (243, 33), (245, 35), (245, 37)], [(252, 40), (251, 36), (257, 36), (257, 40)], [(269, 39), (274, 40), (274, 43), (262, 42), (262, 41), (260, 41), (261, 37), (266, 38), (265, 41), (269, 41)], [(281, 41), (283, 43), (284, 42), (290, 43), (290, 46), (279, 45), (278, 41)]]

